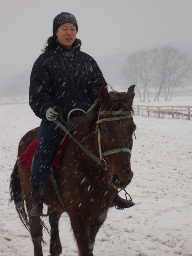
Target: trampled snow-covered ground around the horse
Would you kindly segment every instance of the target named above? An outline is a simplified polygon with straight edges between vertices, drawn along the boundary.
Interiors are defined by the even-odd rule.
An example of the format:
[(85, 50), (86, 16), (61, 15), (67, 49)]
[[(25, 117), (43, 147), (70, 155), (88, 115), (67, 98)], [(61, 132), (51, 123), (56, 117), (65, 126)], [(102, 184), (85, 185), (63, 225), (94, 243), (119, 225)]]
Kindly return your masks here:
[[(0, 113), (0, 255), (31, 256), (30, 235), (14, 204), (8, 205), (9, 181), (19, 140), (38, 126), (40, 119), (28, 104), (0, 105)], [(94, 256), (192, 256), (192, 121), (135, 116), (134, 122), (137, 125), (131, 159), (134, 177), (127, 192), (136, 205), (123, 211), (109, 210), (96, 237)], [(61, 255), (77, 256), (65, 213), (60, 219), (60, 238)], [(47, 246), (44, 245), (43, 251), (47, 256), (46, 232), (44, 240)]]

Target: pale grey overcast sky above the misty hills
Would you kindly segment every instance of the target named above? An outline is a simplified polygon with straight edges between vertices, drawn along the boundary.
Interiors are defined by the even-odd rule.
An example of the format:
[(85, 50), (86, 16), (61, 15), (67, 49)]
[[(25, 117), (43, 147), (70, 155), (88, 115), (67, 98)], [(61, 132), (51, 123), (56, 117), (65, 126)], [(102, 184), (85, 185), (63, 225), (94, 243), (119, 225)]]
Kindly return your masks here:
[(192, 39), (192, 0), (0, 0), (0, 78), (31, 69), (53, 18), (71, 12), (93, 58)]

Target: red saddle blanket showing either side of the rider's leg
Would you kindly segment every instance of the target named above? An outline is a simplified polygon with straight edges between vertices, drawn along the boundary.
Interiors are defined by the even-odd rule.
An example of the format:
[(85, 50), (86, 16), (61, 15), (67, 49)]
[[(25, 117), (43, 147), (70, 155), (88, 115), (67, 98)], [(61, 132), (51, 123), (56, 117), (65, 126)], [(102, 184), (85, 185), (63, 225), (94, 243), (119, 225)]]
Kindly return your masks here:
[[(55, 161), (52, 165), (52, 167), (54, 168), (58, 168), (61, 165), (61, 160), (62, 160), (62, 156), (65, 152), (65, 149), (67, 147), (68, 144), (68, 140), (69, 140), (69, 135), (67, 135), (65, 137), (65, 139), (63, 140), (62, 144), (60, 145), (59, 151), (57, 153), (57, 156), (55, 158)], [(37, 144), (38, 144), (38, 137), (33, 140), (25, 149), (25, 151), (23, 152), (22, 156), (20, 157), (19, 163), (26, 165), (27, 167), (31, 168), (31, 164), (32, 164), (32, 159), (35, 153), (35, 150), (37, 148)]]

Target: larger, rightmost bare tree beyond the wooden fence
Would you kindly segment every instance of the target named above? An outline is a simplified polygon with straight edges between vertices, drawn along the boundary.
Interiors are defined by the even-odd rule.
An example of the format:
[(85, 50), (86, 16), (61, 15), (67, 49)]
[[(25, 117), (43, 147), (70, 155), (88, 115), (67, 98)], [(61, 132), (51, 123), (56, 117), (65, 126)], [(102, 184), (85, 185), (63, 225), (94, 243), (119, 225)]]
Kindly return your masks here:
[(155, 72), (157, 92), (154, 101), (164, 91), (165, 100), (172, 99), (173, 89), (189, 76), (192, 68), (188, 54), (170, 45), (150, 51)]

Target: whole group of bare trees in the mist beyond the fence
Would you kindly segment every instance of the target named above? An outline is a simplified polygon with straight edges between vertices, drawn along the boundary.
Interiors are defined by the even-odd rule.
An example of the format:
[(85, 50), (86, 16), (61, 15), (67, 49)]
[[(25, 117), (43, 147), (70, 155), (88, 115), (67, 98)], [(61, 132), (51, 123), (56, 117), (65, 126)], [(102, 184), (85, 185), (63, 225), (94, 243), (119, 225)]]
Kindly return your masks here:
[(174, 88), (191, 83), (191, 73), (191, 57), (170, 45), (132, 53), (121, 70), (128, 84), (136, 84), (141, 102), (150, 101), (151, 92), (155, 93), (154, 101), (161, 93), (165, 100), (171, 100)]

